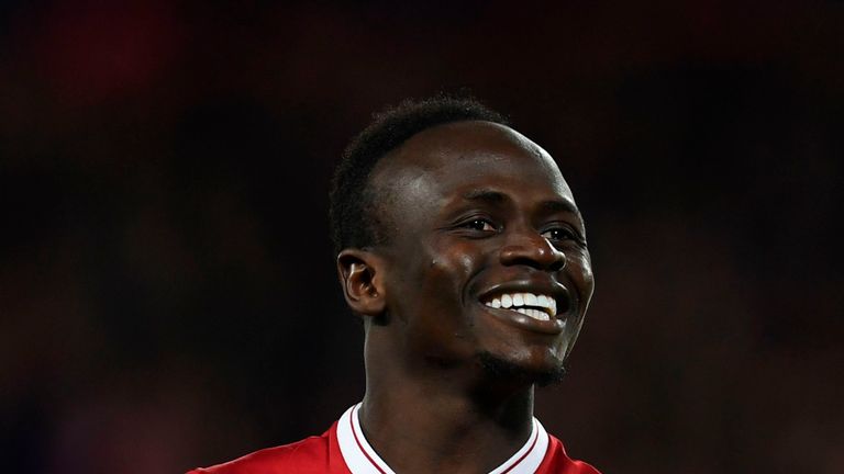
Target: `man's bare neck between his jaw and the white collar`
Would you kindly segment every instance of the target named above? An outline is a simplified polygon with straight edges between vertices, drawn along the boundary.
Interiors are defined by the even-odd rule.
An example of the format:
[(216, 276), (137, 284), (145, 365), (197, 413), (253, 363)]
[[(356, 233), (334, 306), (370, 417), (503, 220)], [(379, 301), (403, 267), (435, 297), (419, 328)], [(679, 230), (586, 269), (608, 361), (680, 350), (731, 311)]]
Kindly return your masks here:
[(369, 376), (360, 408), (367, 440), (401, 473), (493, 470), (531, 433), (533, 386), (478, 382), (478, 371), (453, 368), (436, 376)]

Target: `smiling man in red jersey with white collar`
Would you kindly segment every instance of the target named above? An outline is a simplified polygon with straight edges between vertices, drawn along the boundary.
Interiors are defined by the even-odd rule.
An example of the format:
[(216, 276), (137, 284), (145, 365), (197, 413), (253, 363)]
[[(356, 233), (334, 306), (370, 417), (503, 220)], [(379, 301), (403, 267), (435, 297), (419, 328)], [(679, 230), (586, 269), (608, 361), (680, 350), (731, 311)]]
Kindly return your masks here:
[(321, 437), (193, 473), (597, 473), (533, 417), (593, 289), (552, 157), (475, 101), (408, 101), (352, 142), (331, 198), (363, 402)]

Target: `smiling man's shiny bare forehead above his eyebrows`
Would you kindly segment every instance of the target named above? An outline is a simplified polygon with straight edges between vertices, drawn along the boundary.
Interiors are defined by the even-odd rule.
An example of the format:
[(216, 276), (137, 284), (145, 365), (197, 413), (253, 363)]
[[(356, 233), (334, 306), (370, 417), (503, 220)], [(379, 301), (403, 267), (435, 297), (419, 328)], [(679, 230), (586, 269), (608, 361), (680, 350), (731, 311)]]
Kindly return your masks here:
[(524, 135), (490, 122), (451, 123), (412, 136), (381, 159), (371, 183), (388, 191), (392, 202), (421, 204), (473, 190), (509, 189), (509, 194), (543, 194), (574, 205), (553, 158)]

